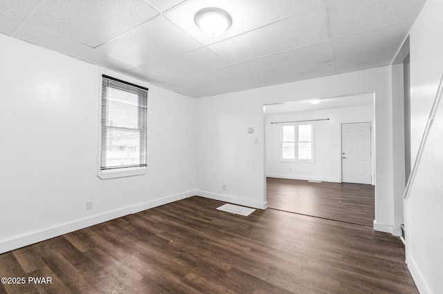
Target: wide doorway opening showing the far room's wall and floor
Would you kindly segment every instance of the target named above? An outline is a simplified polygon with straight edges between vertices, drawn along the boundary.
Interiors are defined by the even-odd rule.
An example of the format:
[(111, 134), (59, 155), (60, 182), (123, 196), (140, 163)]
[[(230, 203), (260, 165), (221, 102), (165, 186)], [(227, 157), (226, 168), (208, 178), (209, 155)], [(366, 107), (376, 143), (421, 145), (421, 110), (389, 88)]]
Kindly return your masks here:
[[(320, 99), (318, 104), (304, 100), (266, 105), (264, 112), (267, 207), (372, 227), (375, 219), (374, 140), (371, 139), (374, 137), (374, 93), (328, 97)], [(297, 152), (297, 138), (289, 140), (293, 145), (288, 144), (287, 139), (282, 141), (282, 126), (293, 121), (311, 121), (312, 161), (282, 160), (292, 149)], [(364, 125), (369, 126), (369, 140), (357, 139), (356, 143), (368, 150), (369, 159), (365, 159), (368, 166), (353, 159), (357, 162), (356, 170), (360, 172), (363, 166), (366, 175), (364, 184), (355, 184), (347, 177), (343, 180), (341, 134), (342, 126), (362, 121), (369, 124)], [(300, 144), (306, 144), (305, 141)], [(349, 162), (347, 166), (352, 166), (351, 160)]]

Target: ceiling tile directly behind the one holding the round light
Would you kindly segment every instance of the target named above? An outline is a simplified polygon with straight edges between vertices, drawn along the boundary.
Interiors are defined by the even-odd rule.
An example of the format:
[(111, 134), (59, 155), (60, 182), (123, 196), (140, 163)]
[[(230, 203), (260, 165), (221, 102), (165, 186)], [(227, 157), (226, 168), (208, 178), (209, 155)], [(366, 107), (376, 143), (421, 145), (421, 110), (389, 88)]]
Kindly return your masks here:
[(326, 40), (325, 15), (323, 9), (318, 9), (215, 43), (208, 48), (230, 63), (238, 63)]

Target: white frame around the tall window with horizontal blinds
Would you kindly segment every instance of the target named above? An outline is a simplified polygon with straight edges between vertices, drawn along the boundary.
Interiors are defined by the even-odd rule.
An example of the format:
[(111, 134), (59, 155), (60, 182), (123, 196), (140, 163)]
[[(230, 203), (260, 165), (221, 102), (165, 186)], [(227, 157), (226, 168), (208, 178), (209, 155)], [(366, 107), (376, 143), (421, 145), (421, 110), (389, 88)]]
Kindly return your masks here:
[[(97, 160), (97, 176), (100, 179), (114, 179), (118, 177), (132, 177), (135, 175), (145, 175), (147, 173), (147, 166), (136, 166), (136, 167), (129, 167), (129, 168), (112, 168), (112, 169), (102, 169), (102, 146), (104, 142), (102, 141), (102, 119), (103, 119), (103, 113), (102, 113), (102, 94), (103, 94), (103, 76), (107, 76), (110, 79), (116, 79), (118, 81), (122, 81), (123, 83), (132, 84), (133, 86), (138, 86), (141, 88), (146, 88), (143, 85), (143, 82), (138, 81), (136, 79), (132, 79), (130, 77), (127, 77), (125, 75), (120, 75), (116, 72), (109, 72), (108, 70), (101, 69), (100, 70), (100, 95), (99, 95), (99, 108), (98, 108), (98, 160)], [(148, 101), (147, 101), (148, 102)], [(147, 110), (146, 110), (147, 111)], [(147, 113), (146, 113), (146, 120), (145, 120), (145, 135), (147, 138)], [(106, 143), (105, 143), (106, 144)], [(146, 157), (146, 164), (147, 164), (147, 139), (146, 139), (146, 146), (145, 146), (145, 157)]]

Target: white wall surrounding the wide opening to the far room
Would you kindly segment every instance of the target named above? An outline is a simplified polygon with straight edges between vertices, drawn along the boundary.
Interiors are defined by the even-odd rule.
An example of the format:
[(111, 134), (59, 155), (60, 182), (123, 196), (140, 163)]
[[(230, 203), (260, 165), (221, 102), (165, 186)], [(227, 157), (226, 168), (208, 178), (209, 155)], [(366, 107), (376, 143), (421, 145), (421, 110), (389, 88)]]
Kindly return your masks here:
[[(197, 99), (197, 193), (265, 207), (265, 104), (374, 92), (376, 220), (395, 227), (390, 66)], [(254, 134), (247, 133), (254, 127)], [(260, 144), (254, 144), (258, 137)], [(226, 184), (226, 191), (221, 185)]]

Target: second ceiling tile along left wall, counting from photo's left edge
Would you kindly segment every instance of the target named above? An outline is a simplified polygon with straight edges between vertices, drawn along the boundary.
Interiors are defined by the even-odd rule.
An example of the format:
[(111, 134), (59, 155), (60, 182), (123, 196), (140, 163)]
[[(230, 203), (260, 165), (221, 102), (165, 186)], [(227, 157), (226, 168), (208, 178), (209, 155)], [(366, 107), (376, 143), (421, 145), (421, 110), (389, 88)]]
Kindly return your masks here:
[(57, 35), (55, 32), (39, 26), (30, 25), (29, 23), (21, 26), (14, 33), (14, 37), (71, 57), (78, 57), (92, 49), (82, 43)]

